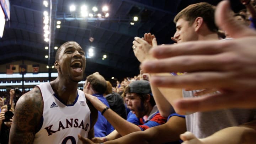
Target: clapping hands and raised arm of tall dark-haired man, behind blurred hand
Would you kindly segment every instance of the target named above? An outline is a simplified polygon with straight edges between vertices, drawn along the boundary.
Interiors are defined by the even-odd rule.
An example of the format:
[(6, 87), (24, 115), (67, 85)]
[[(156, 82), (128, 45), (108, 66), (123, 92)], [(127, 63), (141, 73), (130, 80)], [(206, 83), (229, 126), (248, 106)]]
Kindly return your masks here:
[[(152, 40), (149, 40), (152, 38)], [(157, 46), (156, 38), (152, 37), (150, 33), (144, 35), (144, 39), (135, 37), (135, 40), (133, 41), (133, 47), (136, 47), (133, 49), (134, 55), (137, 57), (139, 62), (144, 62), (147, 60), (155, 59), (149, 53), (149, 50), (152, 47)], [(152, 46), (150, 43), (152, 43)], [(149, 80), (151, 79), (151, 76), (172, 76), (170, 73), (151, 73), (149, 75)], [(181, 89), (172, 89), (172, 88), (164, 88), (164, 87), (158, 87), (154, 85), (152, 82), (150, 82), (151, 91), (154, 95), (154, 99), (156, 102), (156, 105), (158, 106), (158, 110), (163, 117), (168, 117), (171, 112), (173, 111), (172, 103), (177, 98), (182, 97), (182, 90)]]

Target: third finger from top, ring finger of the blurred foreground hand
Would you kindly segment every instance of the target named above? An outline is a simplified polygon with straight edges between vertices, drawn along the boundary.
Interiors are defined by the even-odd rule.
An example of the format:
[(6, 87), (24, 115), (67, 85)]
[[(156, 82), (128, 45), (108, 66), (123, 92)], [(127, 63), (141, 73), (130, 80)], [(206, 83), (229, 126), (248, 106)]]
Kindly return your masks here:
[(231, 81), (229, 79), (230, 75), (232, 74), (223, 74), (219, 72), (200, 72), (187, 73), (178, 76), (151, 76), (150, 82), (158, 87), (186, 87), (189, 89), (230, 89), (230, 87), (237, 87), (237, 85), (233, 85), (236, 81), (234, 82), (234, 80)]

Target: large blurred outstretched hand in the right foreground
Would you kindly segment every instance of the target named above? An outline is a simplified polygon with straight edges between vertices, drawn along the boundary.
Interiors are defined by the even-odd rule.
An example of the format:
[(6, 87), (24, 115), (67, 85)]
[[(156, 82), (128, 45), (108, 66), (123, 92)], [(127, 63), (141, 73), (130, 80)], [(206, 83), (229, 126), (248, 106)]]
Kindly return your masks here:
[(220, 91), (177, 100), (174, 107), (180, 111), (256, 107), (256, 32), (234, 20), (227, 0), (217, 6), (215, 21), (234, 39), (153, 47), (150, 53), (157, 59), (142, 63), (146, 73), (187, 72), (179, 76), (152, 76), (151, 82), (156, 86)]

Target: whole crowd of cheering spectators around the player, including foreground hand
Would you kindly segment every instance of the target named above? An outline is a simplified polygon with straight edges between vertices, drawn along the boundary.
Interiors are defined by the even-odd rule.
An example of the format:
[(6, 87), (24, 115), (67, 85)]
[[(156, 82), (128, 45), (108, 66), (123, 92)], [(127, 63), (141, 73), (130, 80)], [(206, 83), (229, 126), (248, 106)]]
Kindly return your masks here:
[[(98, 121), (94, 138), (78, 138), (90, 144), (255, 143), (256, 2), (240, 1), (246, 9), (236, 14), (228, 1), (216, 10), (206, 2), (183, 9), (174, 18), (177, 44), (157, 46), (151, 33), (135, 37), (139, 75), (114, 84), (98, 72), (87, 76), (83, 92)], [(3, 120), (6, 111), (15, 113), (14, 90), (0, 95), (8, 135), (13, 118)]]

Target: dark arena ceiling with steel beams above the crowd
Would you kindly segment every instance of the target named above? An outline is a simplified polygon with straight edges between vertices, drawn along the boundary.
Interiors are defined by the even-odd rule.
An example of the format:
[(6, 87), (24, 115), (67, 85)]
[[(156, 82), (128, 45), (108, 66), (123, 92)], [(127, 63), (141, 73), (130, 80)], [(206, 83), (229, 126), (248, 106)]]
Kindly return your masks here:
[[(187, 5), (202, 1), (216, 5), (221, 0), (52, 0), (51, 54), (47, 59), (49, 51), (45, 47), (49, 44), (43, 36), (43, 11), (49, 11), (49, 6), (46, 8), (43, 0), (10, 0), (10, 21), (0, 38), (0, 64), (31, 60), (53, 65), (54, 47), (76, 41), (85, 52), (94, 48), (94, 57), (87, 58), (86, 75), (99, 71), (107, 79), (134, 76), (139, 73), (139, 62), (132, 50), (134, 37), (151, 32), (159, 44), (172, 43), (174, 16)], [(81, 18), (69, 11), (71, 4), (99, 9), (108, 5), (109, 17)], [(235, 11), (244, 8), (239, 0), (232, 0), (231, 4)], [(134, 15), (139, 20), (130, 25)], [(61, 21), (60, 28), (56, 28), (57, 20)], [(104, 54), (107, 58), (102, 60)]]

